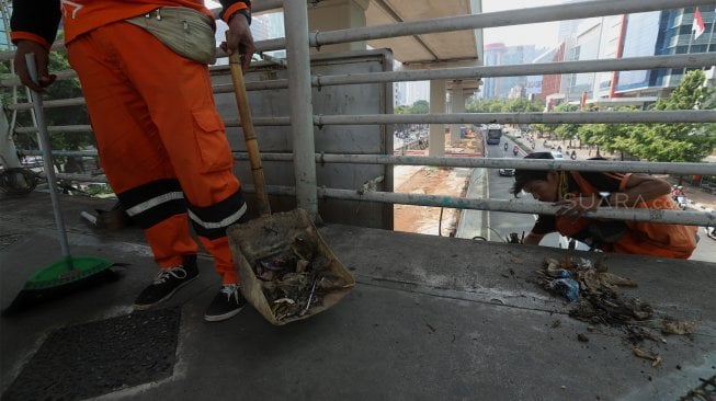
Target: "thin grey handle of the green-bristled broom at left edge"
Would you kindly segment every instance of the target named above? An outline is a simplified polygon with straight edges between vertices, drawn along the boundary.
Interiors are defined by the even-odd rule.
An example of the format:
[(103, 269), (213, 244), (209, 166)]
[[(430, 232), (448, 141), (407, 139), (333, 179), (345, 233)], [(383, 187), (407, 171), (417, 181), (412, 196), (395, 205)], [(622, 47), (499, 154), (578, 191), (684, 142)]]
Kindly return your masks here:
[[(27, 71), (33, 82), (37, 83), (37, 66), (35, 62), (35, 54), (29, 53), (25, 55), (25, 64)], [(55, 165), (53, 164), (53, 149), (49, 142), (49, 135), (47, 135), (47, 126), (45, 125), (45, 113), (43, 111), (43, 96), (30, 90), (32, 98), (32, 105), (35, 110), (35, 118), (37, 121), (37, 131), (39, 137), (39, 146), (43, 148), (43, 164), (45, 165), (45, 174), (47, 175), (47, 184), (49, 185), (49, 197), (53, 200), (53, 213), (55, 214), (55, 222), (57, 224), (57, 232), (59, 237), (59, 245), (62, 250), (62, 256), (70, 260), (69, 243), (67, 241), (67, 230), (65, 229), (65, 220), (62, 220), (62, 213), (59, 208), (59, 195), (57, 194), (57, 177), (55, 175)]]

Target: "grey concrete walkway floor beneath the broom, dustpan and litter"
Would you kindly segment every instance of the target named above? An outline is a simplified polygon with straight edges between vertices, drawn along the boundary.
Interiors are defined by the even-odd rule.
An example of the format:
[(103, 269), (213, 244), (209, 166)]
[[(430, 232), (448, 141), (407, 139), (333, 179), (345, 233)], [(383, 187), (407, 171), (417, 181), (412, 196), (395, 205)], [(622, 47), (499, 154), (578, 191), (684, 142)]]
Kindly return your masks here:
[[(1, 319), (2, 392), (50, 333), (127, 316), (156, 274), (138, 229), (95, 232), (79, 221), (81, 210), (111, 202), (61, 202), (72, 254), (129, 265), (115, 283)], [(57, 261), (60, 250), (47, 194), (2, 197), (0, 215), (5, 307), (27, 276)], [(204, 309), (219, 283), (211, 261), (200, 257), (200, 278), (163, 306), (181, 313), (168, 376), (107, 389), (100, 399), (674, 400), (701, 385), (700, 378), (716, 376), (715, 263), (604, 259), (610, 272), (638, 284), (623, 290), (625, 296), (651, 303), (657, 317), (700, 322), (695, 334), (640, 344), (660, 356), (651, 366), (633, 355), (622, 329), (571, 319), (573, 305), (533, 283), (544, 257), (595, 262), (600, 254), (352, 226), (319, 231), (357, 280), (337, 306), (284, 326), (271, 325), (250, 307), (231, 320), (207, 323)], [(92, 346), (102, 353), (130, 334), (117, 332), (116, 342)], [(86, 385), (120, 374), (98, 369)]]

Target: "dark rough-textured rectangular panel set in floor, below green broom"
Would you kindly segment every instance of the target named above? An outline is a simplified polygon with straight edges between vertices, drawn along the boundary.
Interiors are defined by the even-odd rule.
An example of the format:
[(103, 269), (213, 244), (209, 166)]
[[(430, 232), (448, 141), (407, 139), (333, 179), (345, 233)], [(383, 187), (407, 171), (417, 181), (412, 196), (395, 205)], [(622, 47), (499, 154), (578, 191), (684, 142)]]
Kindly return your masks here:
[(78, 400), (170, 377), (179, 308), (135, 312), (54, 331), (2, 400)]

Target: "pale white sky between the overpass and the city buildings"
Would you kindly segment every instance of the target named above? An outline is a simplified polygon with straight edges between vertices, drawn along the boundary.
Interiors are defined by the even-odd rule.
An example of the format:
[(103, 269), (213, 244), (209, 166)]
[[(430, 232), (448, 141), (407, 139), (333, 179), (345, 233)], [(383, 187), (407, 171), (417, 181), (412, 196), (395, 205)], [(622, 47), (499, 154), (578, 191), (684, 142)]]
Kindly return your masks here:
[[(482, 12), (496, 12), (561, 4), (562, 0), (482, 0)], [(507, 46), (536, 45), (552, 47), (557, 44), (559, 22), (490, 27), (482, 31), (485, 44), (501, 42)]]

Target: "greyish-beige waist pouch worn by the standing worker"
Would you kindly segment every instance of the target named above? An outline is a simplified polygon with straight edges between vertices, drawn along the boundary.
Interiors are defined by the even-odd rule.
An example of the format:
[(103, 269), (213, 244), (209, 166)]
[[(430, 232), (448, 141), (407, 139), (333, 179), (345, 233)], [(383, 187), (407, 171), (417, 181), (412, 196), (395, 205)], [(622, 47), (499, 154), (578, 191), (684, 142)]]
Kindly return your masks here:
[(214, 20), (186, 7), (161, 7), (126, 20), (145, 28), (167, 47), (191, 60), (216, 62)]

